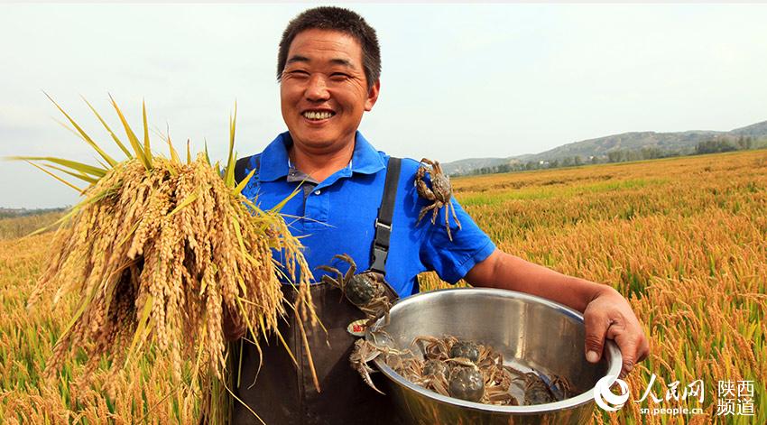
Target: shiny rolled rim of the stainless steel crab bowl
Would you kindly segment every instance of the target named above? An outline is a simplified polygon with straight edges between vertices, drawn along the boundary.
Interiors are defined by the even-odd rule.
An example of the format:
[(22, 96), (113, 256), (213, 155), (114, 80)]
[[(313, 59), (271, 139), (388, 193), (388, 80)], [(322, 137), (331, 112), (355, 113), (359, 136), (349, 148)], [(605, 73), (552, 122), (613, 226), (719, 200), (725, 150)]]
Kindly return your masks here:
[[(411, 295), (409, 297), (405, 297), (400, 300), (397, 300), (396, 302), (394, 302), (392, 306), (392, 310), (397, 309), (399, 306), (416, 302), (416, 300), (420, 300), (421, 298), (434, 297), (434, 296), (437, 296), (437, 294), (439, 294), (440, 292), (447, 292), (447, 291), (454, 291), (457, 293), (461, 293), (462, 296), (470, 296), (470, 295), (477, 295), (477, 294), (480, 296), (500, 295), (504, 298), (513, 298), (515, 300), (520, 300), (520, 299), (527, 300), (533, 303), (542, 304), (553, 310), (558, 310), (559, 313), (569, 316), (573, 319), (577, 319), (581, 323), (583, 323), (584, 321), (583, 315), (581, 313), (579, 313), (576, 310), (570, 309), (567, 306), (559, 304), (558, 302), (547, 300), (545, 298), (541, 298), (541, 297), (530, 295), (523, 292), (502, 290), (497, 288), (447, 288), (447, 289), (442, 289), (437, 291), (420, 292), (420, 293)], [(370, 336), (371, 328), (378, 328), (379, 326), (383, 325), (383, 321), (384, 321), (383, 318), (378, 319), (375, 322), (373, 327), (368, 328), (365, 331), (365, 339), (371, 339), (371, 336)], [(621, 351), (618, 349), (618, 346), (615, 344), (613, 340), (608, 339), (605, 341), (603, 358), (605, 358), (605, 360), (607, 361), (607, 373), (605, 374), (605, 376), (611, 376), (611, 378), (607, 381), (607, 386), (606, 386), (606, 388), (609, 388), (613, 383), (615, 383), (615, 380), (617, 379), (618, 374), (620, 374), (621, 372), (621, 367), (623, 363), (623, 357), (621, 356)], [(541, 413), (547, 413), (551, 411), (562, 411), (562, 410), (574, 409), (580, 405), (586, 404), (587, 402), (594, 401), (594, 389), (596, 385), (595, 387), (589, 388), (584, 393), (578, 394), (575, 397), (570, 397), (568, 399), (562, 400), (561, 402), (533, 404), (530, 406), (496, 406), (493, 404), (484, 404), (479, 402), (467, 402), (465, 400), (447, 397), (439, 393), (434, 393), (430, 390), (427, 390), (426, 388), (421, 387), (420, 385), (411, 383), (407, 379), (403, 378), (400, 374), (397, 374), (396, 372), (394, 372), (394, 370), (391, 367), (386, 365), (384, 363), (384, 360), (381, 358), (381, 356), (376, 357), (373, 360), (373, 362), (374, 362), (374, 365), (376, 365), (378, 369), (384, 375), (386, 375), (389, 379), (391, 379), (394, 383), (397, 383), (411, 391), (419, 393), (420, 395), (428, 397), (432, 400), (436, 400), (438, 402), (443, 402), (445, 404), (464, 408), (464, 409), (470, 409), (470, 410), (476, 410), (476, 411), (490, 411), (490, 412), (497, 412), (497, 413), (541, 414)]]

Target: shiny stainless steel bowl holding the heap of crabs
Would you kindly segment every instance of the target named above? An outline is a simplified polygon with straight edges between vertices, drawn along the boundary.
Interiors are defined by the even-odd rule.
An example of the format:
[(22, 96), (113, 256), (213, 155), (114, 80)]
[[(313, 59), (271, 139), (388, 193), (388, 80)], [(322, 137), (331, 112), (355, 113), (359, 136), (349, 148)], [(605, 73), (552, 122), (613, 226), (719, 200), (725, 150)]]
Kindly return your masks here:
[[(379, 319), (375, 328), (383, 326)], [(493, 346), (504, 363), (529, 372), (568, 378), (578, 395), (531, 406), (494, 406), (433, 393), (396, 374), (381, 356), (374, 364), (386, 376), (387, 394), (409, 423), (587, 423), (594, 409), (593, 389), (607, 374), (621, 370), (621, 353), (608, 341), (598, 364), (584, 356), (583, 316), (556, 302), (514, 291), (459, 288), (420, 293), (394, 304), (388, 344), (411, 346), (415, 337), (452, 335)], [(373, 339), (371, 332), (365, 336)], [(521, 390), (520, 390), (521, 391)], [(518, 399), (519, 395), (514, 394)]]

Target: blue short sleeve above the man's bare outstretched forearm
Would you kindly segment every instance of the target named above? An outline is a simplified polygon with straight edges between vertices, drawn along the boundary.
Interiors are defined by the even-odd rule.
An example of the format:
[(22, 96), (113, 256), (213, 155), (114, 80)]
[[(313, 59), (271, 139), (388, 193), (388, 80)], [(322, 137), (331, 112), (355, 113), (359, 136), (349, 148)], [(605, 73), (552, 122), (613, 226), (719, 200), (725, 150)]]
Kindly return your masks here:
[(481, 263), (495, 250), (495, 244), (485, 232), (476, 226), (474, 220), (458, 204), (457, 200), (450, 199), (456, 209), (456, 216), (461, 223), (459, 229), (452, 214), (448, 213), (451, 241), (448, 230), (445, 227), (445, 210), (440, 208), (437, 221), (430, 223), (431, 213), (423, 217), (422, 221), (429, 220), (427, 225), (430, 229), (424, 232), (425, 240), (421, 245), (421, 262), (428, 268), (437, 272), (439, 278), (445, 282), (456, 283), (476, 265)]

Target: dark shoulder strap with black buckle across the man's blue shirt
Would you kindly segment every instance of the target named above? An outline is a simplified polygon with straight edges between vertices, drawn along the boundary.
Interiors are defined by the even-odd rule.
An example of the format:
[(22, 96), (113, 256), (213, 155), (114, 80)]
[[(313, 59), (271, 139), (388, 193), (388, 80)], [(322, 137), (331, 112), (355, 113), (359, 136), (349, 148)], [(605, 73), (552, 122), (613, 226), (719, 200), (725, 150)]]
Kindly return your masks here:
[(373, 261), (370, 269), (384, 275), (386, 274), (386, 256), (389, 254), (389, 239), (392, 236), (394, 202), (397, 199), (397, 184), (400, 181), (401, 165), (402, 160), (400, 158), (389, 158), (389, 165), (386, 167), (384, 196), (381, 197), (381, 207), (378, 208), (378, 217), (375, 219)]

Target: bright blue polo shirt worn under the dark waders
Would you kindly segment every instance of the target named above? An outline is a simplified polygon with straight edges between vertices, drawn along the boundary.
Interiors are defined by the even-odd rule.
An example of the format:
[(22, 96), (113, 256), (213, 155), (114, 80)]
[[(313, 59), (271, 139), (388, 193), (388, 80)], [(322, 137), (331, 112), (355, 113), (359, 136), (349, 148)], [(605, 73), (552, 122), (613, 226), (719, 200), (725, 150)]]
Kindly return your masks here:
[[(282, 133), (248, 161), (246, 172), (256, 168), (256, 164), (258, 170), (243, 189), (243, 195), (262, 209), (273, 208), (300, 184), (290, 178), (288, 149), (291, 144), (291, 134)], [(333, 258), (336, 254), (350, 255), (358, 272), (370, 267), (375, 218), (384, 193), (388, 161), (389, 155), (376, 151), (357, 132), (349, 165), (318, 182), (310, 191), (301, 190), (282, 207), (281, 213), (291, 233), (300, 236), (305, 247), (304, 255), (315, 280), (326, 274), (317, 270), (319, 265), (347, 271), (346, 263)], [(420, 208), (430, 204), (420, 198), (413, 185), (419, 166), (417, 161), (402, 160), (386, 259), (386, 282), (401, 297), (418, 292), (419, 273), (433, 270), (442, 280), (455, 283), (495, 249), (490, 238), (455, 199), (452, 202), (462, 228), (458, 230), (453, 217), (449, 217), (452, 241), (445, 229), (444, 209), (440, 209), (436, 225), (431, 225), (431, 212), (416, 224)], [(275, 254), (276, 259), (282, 261), (281, 254)]]

